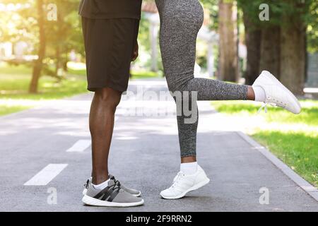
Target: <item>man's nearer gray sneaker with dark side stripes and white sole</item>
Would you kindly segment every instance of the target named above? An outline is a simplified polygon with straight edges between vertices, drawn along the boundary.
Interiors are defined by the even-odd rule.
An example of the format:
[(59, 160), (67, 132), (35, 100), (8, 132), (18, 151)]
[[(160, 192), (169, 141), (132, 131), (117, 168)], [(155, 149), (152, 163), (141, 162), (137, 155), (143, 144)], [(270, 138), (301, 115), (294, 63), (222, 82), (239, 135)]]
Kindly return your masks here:
[(89, 206), (129, 207), (143, 205), (143, 199), (137, 198), (120, 187), (118, 181), (112, 177), (105, 189), (95, 189), (93, 184), (82, 198)]

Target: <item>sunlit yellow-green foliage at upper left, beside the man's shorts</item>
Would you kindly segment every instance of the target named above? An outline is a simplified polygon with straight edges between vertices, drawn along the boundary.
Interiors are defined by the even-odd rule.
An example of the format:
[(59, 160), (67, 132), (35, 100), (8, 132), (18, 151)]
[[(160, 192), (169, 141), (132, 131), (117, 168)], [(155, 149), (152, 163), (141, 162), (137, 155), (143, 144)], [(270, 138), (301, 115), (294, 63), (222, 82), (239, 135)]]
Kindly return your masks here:
[[(23, 40), (28, 43), (28, 53), (37, 54), (39, 34), (37, 28), (36, 0), (4, 1), (18, 3), (21, 8), (16, 11), (5, 11), (0, 20), (0, 42), (16, 42)], [(68, 61), (71, 49), (83, 55), (83, 37), (81, 20), (77, 9), (78, 0), (45, 0), (43, 8), (45, 15), (49, 13), (49, 4), (57, 5), (57, 20), (45, 18), (46, 58), (45, 69), (50, 71), (55, 61)], [(27, 5), (28, 4), (28, 5)], [(27, 6), (27, 7), (25, 7)], [(59, 51), (59, 54), (57, 54)]]

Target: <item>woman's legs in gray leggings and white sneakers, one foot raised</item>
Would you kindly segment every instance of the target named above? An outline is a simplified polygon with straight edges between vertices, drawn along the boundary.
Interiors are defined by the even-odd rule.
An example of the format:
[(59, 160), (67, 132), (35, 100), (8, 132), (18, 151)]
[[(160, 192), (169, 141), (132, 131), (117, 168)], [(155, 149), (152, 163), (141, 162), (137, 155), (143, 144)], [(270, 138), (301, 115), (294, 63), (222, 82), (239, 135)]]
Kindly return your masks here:
[[(274, 103), (295, 114), (300, 112), (300, 105), (293, 94), (288, 93), (268, 71), (261, 73), (253, 88), (194, 78), (196, 36), (204, 19), (201, 4), (198, 0), (156, 0), (156, 3), (160, 13), (160, 50), (168, 88), (172, 93), (182, 93), (182, 98), (183, 94), (189, 97), (181, 98), (181, 105), (180, 100), (175, 100), (182, 162), (189, 162), (182, 164), (183, 169), (187, 169), (185, 165), (190, 165), (190, 168), (195, 167), (195, 171), (185, 172), (181, 165), (181, 172), (175, 177), (174, 184), (160, 193), (163, 198), (174, 199), (182, 198), (188, 191), (199, 189), (209, 182), (204, 170), (196, 165), (197, 114), (196, 120), (189, 123), (183, 105), (191, 106), (192, 113), (197, 113), (196, 100), (257, 100)], [(194, 101), (192, 95), (196, 95)]]

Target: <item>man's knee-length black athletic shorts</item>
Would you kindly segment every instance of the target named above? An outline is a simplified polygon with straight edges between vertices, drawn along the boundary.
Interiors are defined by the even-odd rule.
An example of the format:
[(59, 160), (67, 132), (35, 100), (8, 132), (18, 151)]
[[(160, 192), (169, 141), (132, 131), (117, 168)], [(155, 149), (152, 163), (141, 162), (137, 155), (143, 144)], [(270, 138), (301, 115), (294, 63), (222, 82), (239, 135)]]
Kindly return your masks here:
[(82, 17), (88, 90), (112, 88), (126, 91), (139, 20)]

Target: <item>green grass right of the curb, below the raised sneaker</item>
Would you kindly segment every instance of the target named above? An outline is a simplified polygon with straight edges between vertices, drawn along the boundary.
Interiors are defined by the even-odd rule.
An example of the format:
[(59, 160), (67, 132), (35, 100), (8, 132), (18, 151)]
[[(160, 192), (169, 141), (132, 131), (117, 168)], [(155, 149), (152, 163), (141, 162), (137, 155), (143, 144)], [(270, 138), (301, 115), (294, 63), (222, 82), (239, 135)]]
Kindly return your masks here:
[[(302, 100), (302, 112), (291, 114), (269, 107), (268, 113), (257, 115), (259, 105), (251, 102), (213, 102), (218, 112), (240, 117), (249, 125), (247, 133), (265, 145), (308, 182), (318, 186), (318, 101)], [(250, 124), (261, 117), (259, 124)]]

